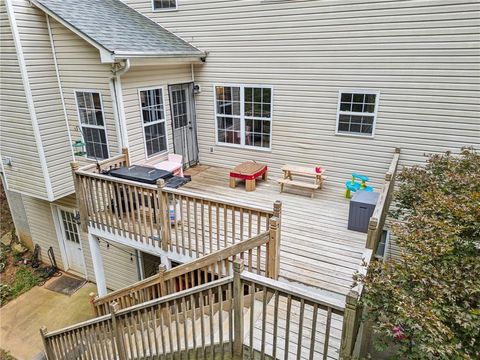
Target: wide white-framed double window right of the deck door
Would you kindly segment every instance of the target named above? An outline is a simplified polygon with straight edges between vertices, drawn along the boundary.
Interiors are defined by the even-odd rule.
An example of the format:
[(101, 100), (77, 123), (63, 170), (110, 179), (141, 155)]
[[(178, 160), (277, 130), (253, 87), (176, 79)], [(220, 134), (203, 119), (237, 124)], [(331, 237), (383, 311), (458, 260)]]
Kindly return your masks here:
[(217, 144), (271, 148), (272, 88), (215, 86)]

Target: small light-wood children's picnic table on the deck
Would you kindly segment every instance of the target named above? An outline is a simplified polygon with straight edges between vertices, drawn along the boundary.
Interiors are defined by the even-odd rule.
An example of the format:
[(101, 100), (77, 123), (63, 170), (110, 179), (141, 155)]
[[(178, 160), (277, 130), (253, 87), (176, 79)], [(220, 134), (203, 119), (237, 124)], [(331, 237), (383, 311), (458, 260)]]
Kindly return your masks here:
[[(285, 185), (291, 185), (301, 187), (304, 189), (312, 190), (311, 197), (315, 196), (315, 190), (323, 187), (323, 182), (326, 179), (324, 176), (325, 169), (321, 169), (320, 172), (315, 170), (315, 167), (298, 166), (298, 165), (284, 165), (282, 167), (283, 178), (278, 179), (280, 184), (280, 192), (283, 192)], [(294, 176), (299, 176), (301, 179), (293, 179)], [(305, 181), (311, 179), (311, 182)]]

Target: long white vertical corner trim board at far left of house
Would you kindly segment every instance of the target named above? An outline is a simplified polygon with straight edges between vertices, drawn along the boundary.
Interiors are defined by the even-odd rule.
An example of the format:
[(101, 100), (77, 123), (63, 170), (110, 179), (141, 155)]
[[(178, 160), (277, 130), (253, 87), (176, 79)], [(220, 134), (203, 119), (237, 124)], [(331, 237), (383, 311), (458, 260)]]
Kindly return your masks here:
[[(28, 79), (27, 65), (25, 63), (25, 57), (23, 56), (22, 43), (20, 40), (20, 33), (17, 27), (17, 21), (15, 19), (15, 11), (13, 9), (12, 0), (5, 0), (5, 7), (7, 8), (8, 19), (10, 27), (12, 29), (13, 42), (15, 43), (15, 49), (17, 51), (18, 66), (22, 75), (23, 87), (25, 90), (25, 98), (27, 100), (28, 111), (30, 113), (30, 119), (32, 120), (32, 129), (35, 136), (35, 143), (37, 145), (38, 158), (40, 166), (43, 172), (43, 178), (45, 181), (45, 190), (47, 192), (47, 199), (54, 201), (52, 183), (50, 181), (50, 175), (48, 173), (47, 159), (45, 157), (45, 150), (43, 149), (42, 137), (40, 134), (40, 127), (38, 125), (37, 113), (35, 111), (35, 104), (33, 102), (32, 90), (30, 88), (30, 81)], [(33, 196), (33, 195), (30, 195)], [(37, 196), (34, 196), (37, 197)]]

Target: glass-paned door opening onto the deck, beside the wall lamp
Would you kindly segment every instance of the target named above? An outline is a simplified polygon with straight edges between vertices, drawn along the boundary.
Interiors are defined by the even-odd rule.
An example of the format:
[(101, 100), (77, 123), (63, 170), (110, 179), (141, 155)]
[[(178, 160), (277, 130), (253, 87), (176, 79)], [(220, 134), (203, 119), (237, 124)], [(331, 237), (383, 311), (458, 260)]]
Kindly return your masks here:
[(170, 85), (168, 88), (175, 154), (183, 156), (185, 167), (196, 165), (198, 144), (193, 83)]

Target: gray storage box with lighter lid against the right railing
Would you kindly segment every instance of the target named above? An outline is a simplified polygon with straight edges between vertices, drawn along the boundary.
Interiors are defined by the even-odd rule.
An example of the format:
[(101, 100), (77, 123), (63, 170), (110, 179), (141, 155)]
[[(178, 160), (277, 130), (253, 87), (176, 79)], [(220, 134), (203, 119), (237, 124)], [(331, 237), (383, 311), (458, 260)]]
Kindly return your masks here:
[(368, 232), (368, 221), (375, 210), (379, 193), (357, 191), (350, 199), (350, 211), (348, 214), (348, 229), (360, 232)]

